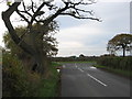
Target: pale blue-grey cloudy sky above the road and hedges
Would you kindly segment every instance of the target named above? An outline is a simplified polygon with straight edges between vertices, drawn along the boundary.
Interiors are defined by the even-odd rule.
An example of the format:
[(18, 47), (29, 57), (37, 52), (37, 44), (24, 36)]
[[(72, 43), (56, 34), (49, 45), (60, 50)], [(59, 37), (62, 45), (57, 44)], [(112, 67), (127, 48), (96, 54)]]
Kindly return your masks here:
[[(6, 6), (0, 4), (0, 8)], [(84, 54), (86, 56), (108, 53), (107, 43), (114, 35), (130, 33), (130, 0), (98, 0), (87, 9), (94, 10), (102, 22), (77, 20), (70, 16), (58, 16), (59, 31), (55, 35), (58, 41), (57, 56)], [(1, 11), (4, 9), (0, 9)], [(0, 45), (2, 34), (7, 30), (0, 18)]]

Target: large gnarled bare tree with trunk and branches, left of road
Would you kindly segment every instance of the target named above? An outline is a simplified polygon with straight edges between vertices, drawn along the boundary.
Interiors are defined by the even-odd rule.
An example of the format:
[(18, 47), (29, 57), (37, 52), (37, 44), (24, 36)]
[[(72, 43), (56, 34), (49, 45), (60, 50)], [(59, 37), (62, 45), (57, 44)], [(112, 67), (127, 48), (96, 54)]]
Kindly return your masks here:
[[(9, 9), (2, 12), (2, 20), (4, 21), (4, 24), (14, 43), (24, 52), (34, 57), (35, 64), (37, 64), (38, 67), (37, 70), (41, 74), (47, 72), (47, 57), (45, 51), (43, 50), (43, 47), (46, 46), (37, 47), (37, 44), (43, 41), (44, 34), (48, 31), (48, 25), (52, 25), (58, 15), (69, 15), (75, 19), (90, 19), (100, 21), (94, 16), (94, 12), (91, 10), (87, 11), (82, 9), (84, 6), (95, 3), (95, 0), (61, 0), (61, 7), (55, 4), (57, 0), (38, 0), (38, 3), (31, 0), (30, 6), (25, 6), (25, 2), (22, 0), (20, 1), (21, 2), (13, 2), (12, 4), (9, 4)], [(23, 9), (19, 9), (21, 6)], [(10, 21), (10, 16), (14, 12), (16, 12), (20, 18), (28, 23), (28, 32), (22, 34), (22, 36), (16, 35)], [(34, 23), (41, 24), (43, 31), (38, 33), (34, 32)], [(30, 44), (22, 40), (26, 34), (30, 35)]]

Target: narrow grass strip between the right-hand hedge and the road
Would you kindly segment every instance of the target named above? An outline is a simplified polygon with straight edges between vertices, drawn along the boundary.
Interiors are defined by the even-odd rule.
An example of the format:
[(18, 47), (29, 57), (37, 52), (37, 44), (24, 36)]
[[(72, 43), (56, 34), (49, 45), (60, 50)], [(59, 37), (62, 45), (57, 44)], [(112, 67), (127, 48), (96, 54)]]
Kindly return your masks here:
[(103, 69), (103, 70), (107, 70), (107, 72), (110, 72), (110, 73), (114, 73), (117, 75), (120, 75), (120, 76), (123, 76), (123, 77), (132, 77), (132, 73), (130, 70), (122, 70), (122, 69), (114, 69), (114, 68), (110, 68), (110, 67), (106, 67), (106, 66), (101, 66), (101, 65), (92, 65), (97, 68), (100, 68), (100, 69)]

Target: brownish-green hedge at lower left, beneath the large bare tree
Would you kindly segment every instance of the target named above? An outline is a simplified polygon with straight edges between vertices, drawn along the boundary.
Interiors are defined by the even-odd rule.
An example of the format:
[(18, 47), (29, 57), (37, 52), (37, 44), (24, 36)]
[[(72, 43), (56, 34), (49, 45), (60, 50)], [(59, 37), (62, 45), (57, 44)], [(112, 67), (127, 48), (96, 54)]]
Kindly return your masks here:
[(40, 76), (26, 73), (16, 56), (4, 52), (2, 55), (2, 96), (32, 97), (38, 86)]

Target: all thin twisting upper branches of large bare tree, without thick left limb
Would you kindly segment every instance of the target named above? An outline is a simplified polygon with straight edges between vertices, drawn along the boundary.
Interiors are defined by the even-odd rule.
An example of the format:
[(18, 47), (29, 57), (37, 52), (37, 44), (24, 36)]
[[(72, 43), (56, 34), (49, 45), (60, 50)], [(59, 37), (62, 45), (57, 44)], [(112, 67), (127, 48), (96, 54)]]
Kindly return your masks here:
[[(52, 0), (53, 1), (53, 0)], [(18, 14), (28, 22), (28, 24), (32, 25), (33, 22), (36, 23), (44, 23), (47, 25), (50, 22), (52, 22), (54, 19), (56, 19), (58, 15), (70, 15), (76, 19), (90, 19), (100, 21), (99, 19), (94, 16), (94, 11), (81, 9), (80, 6), (88, 6), (95, 3), (95, 0), (62, 0), (64, 3), (63, 8), (56, 7), (55, 4), (51, 3), (52, 1), (43, 1), (40, 6), (36, 6), (33, 0), (31, 0), (31, 6), (26, 7), (23, 4), (23, 11), (16, 10)], [(51, 13), (48, 16), (45, 16), (45, 9), (46, 7), (48, 9), (48, 13), (51, 13), (53, 10), (54, 13)], [(29, 18), (28, 18), (29, 16)], [(38, 19), (40, 18), (40, 19)]]

